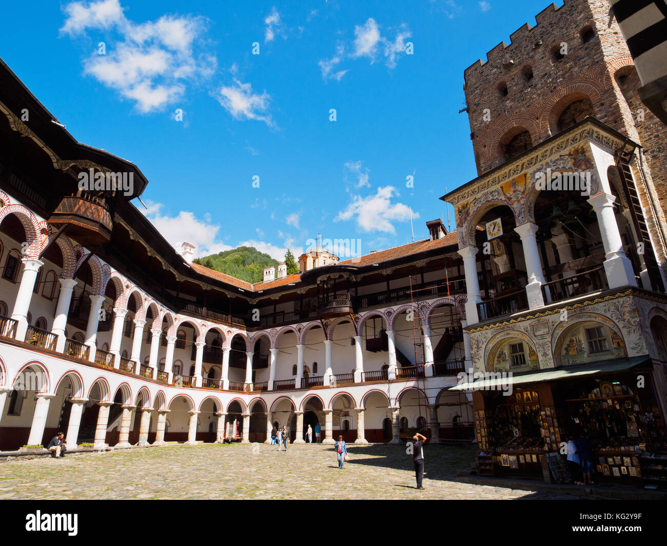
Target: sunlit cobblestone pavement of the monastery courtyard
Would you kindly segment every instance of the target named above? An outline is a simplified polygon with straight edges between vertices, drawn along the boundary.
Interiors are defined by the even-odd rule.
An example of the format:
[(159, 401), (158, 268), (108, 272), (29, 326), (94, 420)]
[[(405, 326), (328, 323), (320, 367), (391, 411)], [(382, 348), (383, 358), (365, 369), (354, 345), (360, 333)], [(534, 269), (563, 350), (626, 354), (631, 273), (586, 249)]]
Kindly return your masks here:
[[(257, 453), (253, 453), (257, 451)], [(0, 499), (542, 499), (534, 493), (454, 481), (470, 445), (428, 445), (426, 491), (415, 489), (401, 445), (348, 446), (338, 469), (328, 445), (167, 445), (0, 465)], [(574, 498), (558, 495), (562, 498)]]

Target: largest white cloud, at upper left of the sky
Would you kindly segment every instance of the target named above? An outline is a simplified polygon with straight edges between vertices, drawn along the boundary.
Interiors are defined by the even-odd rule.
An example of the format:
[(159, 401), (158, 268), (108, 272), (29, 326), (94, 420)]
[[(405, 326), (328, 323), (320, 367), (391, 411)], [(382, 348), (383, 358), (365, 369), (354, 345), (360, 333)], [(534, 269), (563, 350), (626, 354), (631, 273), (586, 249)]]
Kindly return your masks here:
[(75, 37), (89, 29), (110, 33), (104, 40), (105, 55), (96, 51), (87, 57), (84, 73), (134, 101), (142, 113), (175, 103), (186, 83), (215, 71), (215, 56), (198, 47), (206, 26), (201, 17), (163, 15), (135, 23), (125, 17), (119, 0), (72, 2), (63, 11), (63, 34)]

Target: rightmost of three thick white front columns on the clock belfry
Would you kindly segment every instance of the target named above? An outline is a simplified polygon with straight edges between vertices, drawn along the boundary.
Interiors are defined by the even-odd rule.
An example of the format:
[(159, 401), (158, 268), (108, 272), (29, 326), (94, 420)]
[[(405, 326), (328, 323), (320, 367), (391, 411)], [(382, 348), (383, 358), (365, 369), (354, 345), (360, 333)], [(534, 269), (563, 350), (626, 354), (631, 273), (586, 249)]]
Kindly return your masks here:
[(614, 201), (616, 197), (608, 193), (598, 193), (588, 199), (598, 216), (600, 237), (604, 246), (604, 271), (610, 288), (622, 286), (636, 286), (632, 263), (623, 250), (623, 242), (618, 232), (618, 224), (614, 215)]

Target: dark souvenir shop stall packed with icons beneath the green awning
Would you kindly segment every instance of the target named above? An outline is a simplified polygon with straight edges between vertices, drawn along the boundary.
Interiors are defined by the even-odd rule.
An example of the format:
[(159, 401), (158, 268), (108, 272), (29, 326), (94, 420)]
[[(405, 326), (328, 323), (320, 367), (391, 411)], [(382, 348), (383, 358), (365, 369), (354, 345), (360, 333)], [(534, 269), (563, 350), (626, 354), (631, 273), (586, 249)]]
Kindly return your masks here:
[(667, 489), (665, 422), (650, 359), (517, 374), (510, 381), (505, 391), (490, 384), (473, 391), (480, 475), (571, 481), (561, 454), (570, 436), (583, 432), (594, 450), (594, 481)]

